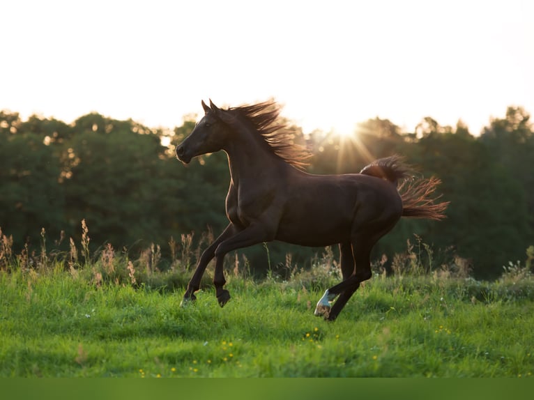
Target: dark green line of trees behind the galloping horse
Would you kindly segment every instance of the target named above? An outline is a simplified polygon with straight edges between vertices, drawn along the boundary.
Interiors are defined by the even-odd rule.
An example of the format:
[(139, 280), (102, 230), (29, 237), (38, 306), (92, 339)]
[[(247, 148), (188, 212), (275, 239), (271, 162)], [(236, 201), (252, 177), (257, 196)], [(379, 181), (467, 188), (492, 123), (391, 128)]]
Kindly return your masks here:
[[(194, 233), (198, 243), (202, 233), (218, 234), (227, 223), (227, 159), (221, 152), (179, 163), (174, 148), (193, 127), (193, 116), (167, 130), (96, 113), (68, 124), (0, 111), (2, 235), (15, 249), (38, 249), (47, 240), (61, 250), (69, 238), (79, 240), (85, 220), (93, 247), (112, 243), (136, 252), (157, 243), (165, 253), (182, 235)], [(491, 278), (509, 261), (524, 261), (534, 244), (534, 130), (521, 107), (491, 119), (480, 136), (461, 121), (442, 126), (430, 117), (407, 133), (381, 118), (360, 123), (351, 136), (292, 128), (312, 151), (307, 170), (314, 174), (357, 172), (399, 154), (418, 174), (441, 178), (448, 218), (397, 224), (374, 250), (386, 268), (406, 246), (419, 245), (429, 268), (461, 263)], [(245, 254), (250, 268), (264, 270), (287, 264), (288, 253), (289, 263), (305, 267), (314, 251), (273, 243)]]

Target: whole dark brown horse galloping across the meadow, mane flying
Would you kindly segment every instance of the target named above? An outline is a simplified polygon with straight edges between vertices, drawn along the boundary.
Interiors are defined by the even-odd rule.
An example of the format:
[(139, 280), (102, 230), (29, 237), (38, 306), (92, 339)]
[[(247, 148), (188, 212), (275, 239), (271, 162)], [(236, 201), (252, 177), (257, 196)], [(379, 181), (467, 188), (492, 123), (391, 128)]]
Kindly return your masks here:
[(222, 268), (228, 252), (271, 240), (313, 247), (339, 244), (343, 281), (324, 293), (315, 310), (334, 320), (360, 282), (371, 277), (371, 249), (400, 217), (443, 218), (447, 203), (430, 197), (439, 180), (412, 180), (397, 190), (397, 181), (409, 172), (400, 157), (377, 160), (360, 174), (307, 174), (302, 168), (308, 154), (293, 144), (275, 102), (220, 109), (210, 100), (202, 107), (206, 114), (176, 155), (188, 164), (197, 155), (227, 153), (230, 223), (202, 253), (183, 302), (195, 300), (213, 257), (213, 284), (222, 307), (230, 298), (223, 289)]

